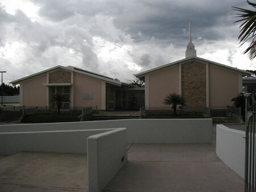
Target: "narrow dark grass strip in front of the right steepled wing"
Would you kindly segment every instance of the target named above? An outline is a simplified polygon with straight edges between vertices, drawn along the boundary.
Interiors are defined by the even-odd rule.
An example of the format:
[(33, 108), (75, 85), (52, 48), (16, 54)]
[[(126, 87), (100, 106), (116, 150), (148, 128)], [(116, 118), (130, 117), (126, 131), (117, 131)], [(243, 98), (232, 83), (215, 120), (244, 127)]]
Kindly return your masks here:
[(207, 114), (191, 113), (191, 114), (147, 114), (145, 119), (201, 119), (209, 118)]

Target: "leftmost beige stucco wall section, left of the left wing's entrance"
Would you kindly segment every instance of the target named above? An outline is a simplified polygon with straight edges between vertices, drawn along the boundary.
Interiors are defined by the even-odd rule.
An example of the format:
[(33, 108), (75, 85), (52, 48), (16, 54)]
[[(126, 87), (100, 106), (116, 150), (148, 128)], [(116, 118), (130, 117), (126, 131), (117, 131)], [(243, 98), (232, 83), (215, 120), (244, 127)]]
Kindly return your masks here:
[(22, 81), (24, 106), (47, 105), (47, 86), (43, 84), (46, 84), (46, 73)]

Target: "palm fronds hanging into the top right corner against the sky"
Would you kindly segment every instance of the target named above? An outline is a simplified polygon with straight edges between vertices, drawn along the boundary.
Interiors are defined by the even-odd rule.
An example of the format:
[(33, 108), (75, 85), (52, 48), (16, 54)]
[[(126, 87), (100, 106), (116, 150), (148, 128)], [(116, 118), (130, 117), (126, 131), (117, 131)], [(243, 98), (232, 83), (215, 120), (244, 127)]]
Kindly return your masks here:
[[(252, 3), (249, 0), (246, 0), (250, 6), (253, 6), (256, 9), (256, 3)], [(233, 10), (240, 11), (240, 14), (237, 14), (241, 19), (237, 22), (243, 22), (240, 26), (240, 43), (244, 44), (246, 41), (251, 40), (249, 47), (245, 50), (244, 53), (248, 53), (251, 60), (256, 57), (256, 11), (242, 9), (239, 7), (233, 7)], [(241, 45), (242, 45), (241, 44)]]

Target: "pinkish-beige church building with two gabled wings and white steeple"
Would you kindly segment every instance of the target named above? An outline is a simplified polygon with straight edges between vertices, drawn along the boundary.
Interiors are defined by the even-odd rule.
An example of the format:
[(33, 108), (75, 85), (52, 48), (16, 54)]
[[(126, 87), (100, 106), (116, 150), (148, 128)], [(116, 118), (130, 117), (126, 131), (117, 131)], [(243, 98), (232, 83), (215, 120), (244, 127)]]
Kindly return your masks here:
[(56, 108), (53, 95), (64, 95), (62, 108), (97, 106), (99, 110), (129, 109), (131, 95), (137, 107), (162, 107), (166, 95), (180, 94), (187, 106), (232, 105), (242, 92), (242, 76), (250, 72), (196, 56), (189, 24), (185, 59), (135, 74), (145, 87), (133, 87), (75, 66), (55, 66), (10, 82), (20, 85), (21, 106)]

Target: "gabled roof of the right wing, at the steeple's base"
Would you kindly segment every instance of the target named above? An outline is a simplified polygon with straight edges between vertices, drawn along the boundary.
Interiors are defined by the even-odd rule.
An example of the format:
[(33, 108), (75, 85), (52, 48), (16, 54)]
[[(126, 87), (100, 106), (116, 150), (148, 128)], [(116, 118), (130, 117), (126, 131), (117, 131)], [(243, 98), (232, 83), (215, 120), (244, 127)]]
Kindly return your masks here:
[(218, 63), (218, 62), (210, 61), (210, 60), (203, 59), (203, 58), (200, 58), (200, 57), (188, 57), (188, 58), (181, 59), (181, 60), (178, 60), (178, 61), (175, 61), (175, 62), (171, 62), (170, 64), (158, 66), (158, 67), (156, 67), (156, 68), (153, 68), (153, 69), (150, 69), (150, 70), (146, 70), (146, 71), (141, 72), (141, 73), (134, 74), (134, 76), (137, 77), (137, 78), (143, 77), (145, 74), (150, 73), (150, 72), (154, 72), (155, 70), (162, 69), (162, 68), (166, 68), (166, 67), (168, 67), (168, 66), (178, 64), (179, 62), (187, 62), (187, 61), (189, 61), (189, 60), (199, 60), (199, 61), (203, 61), (203, 62), (209, 62), (210, 64), (214, 64), (214, 65), (222, 66), (222, 67), (224, 67), (224, 68), (236, 70), (237, 72), (240, 72), (240, 73), (242, 73), (242, 74), (244, 74), (244, 75), (253, 74), (253, 73), (247, 72), (246, 70), (233, 68), (232, 66), (223, 65), (223, 64), (220, 64), (220, 63)]

